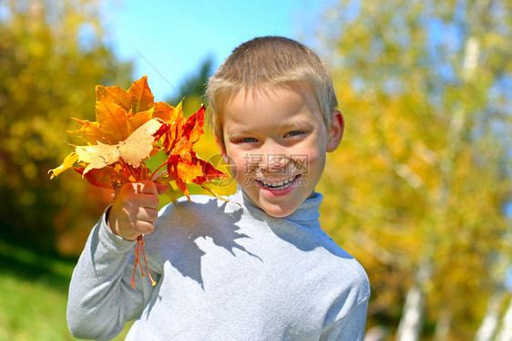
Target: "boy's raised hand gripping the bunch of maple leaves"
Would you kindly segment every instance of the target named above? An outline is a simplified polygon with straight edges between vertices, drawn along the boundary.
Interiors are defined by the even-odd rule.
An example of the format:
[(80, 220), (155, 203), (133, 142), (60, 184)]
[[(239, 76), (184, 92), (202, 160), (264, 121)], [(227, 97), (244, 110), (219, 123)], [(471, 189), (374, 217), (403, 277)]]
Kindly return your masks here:
[(158, 194), (165, 190), (153, 181), (125, 183), (108, 214), (110, 230), (132, 241), (140, 234), (152, 233), (158, 216)]

